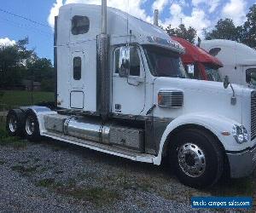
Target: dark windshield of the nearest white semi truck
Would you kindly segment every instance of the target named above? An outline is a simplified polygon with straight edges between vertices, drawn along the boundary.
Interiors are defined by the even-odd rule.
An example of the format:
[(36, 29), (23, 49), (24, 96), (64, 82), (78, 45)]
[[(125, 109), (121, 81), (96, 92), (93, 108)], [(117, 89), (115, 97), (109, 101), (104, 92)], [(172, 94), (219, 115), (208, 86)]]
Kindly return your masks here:
[(144, 45), (143, 49), (148, 60), (148, 67), (153, 76), (186, 78), (180, 55), (171, 50), (153, 45)]

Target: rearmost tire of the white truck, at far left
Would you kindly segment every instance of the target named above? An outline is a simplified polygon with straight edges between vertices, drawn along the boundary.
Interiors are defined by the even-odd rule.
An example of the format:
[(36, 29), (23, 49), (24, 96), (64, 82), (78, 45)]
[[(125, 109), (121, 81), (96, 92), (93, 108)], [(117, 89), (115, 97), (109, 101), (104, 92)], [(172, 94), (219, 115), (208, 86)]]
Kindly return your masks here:
[(6, 130), (10, 136), (23, 136), (25, 114), (20, 109), (12, 109), (6, 118)]

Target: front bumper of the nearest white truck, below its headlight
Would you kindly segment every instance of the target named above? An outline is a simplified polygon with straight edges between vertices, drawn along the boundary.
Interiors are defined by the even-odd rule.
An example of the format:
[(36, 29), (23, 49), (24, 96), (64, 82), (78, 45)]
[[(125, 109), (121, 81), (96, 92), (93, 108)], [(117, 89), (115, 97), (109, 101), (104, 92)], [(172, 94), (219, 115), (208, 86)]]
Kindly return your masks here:
[(230, 177), (250, 176), (256, 167), (256, 146), (242, 152), (227, 153), (230, 162)]

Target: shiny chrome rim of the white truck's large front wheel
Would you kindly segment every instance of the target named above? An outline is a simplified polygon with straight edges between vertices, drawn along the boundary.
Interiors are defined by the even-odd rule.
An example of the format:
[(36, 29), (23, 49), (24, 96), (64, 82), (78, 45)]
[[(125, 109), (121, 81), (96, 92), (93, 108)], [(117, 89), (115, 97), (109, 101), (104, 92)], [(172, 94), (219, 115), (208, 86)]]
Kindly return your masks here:
[(206, 156), (195, 144), (186, 143), (177, 149), (177, 160), (187, 176), (199, 177), (206, 170)]

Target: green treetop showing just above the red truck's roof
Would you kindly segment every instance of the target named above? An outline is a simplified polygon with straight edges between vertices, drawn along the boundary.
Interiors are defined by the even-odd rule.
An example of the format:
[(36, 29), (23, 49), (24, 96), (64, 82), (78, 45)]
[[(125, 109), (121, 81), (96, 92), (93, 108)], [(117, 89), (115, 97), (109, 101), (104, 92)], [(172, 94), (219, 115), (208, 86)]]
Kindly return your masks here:
[(177, 36), (182, 37), (186, 40), (188, 40), (190, 43), (195, 43), (195, 37), (196, 37), (196, 30), (192, 26), (189, 26), (189, 28), (186, 28), (183, 24), (179, 25), (176, 28), (172, 28), (171, 25), (166, 27), (166, 32), (170, 36)]

